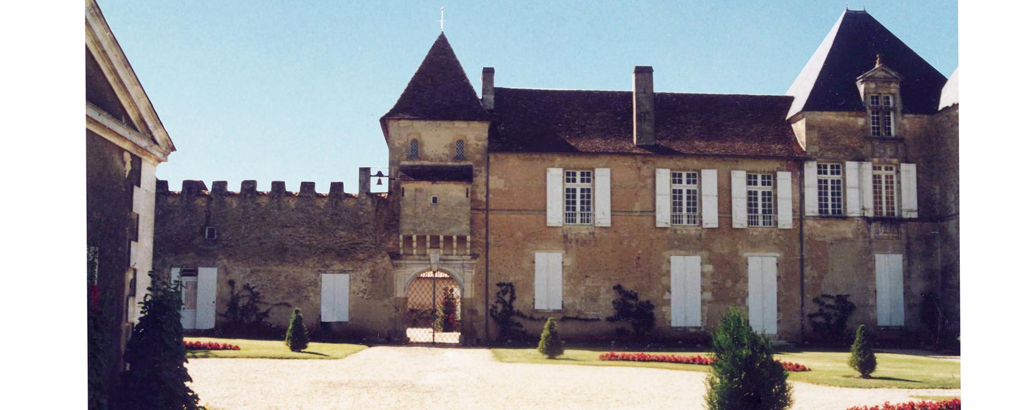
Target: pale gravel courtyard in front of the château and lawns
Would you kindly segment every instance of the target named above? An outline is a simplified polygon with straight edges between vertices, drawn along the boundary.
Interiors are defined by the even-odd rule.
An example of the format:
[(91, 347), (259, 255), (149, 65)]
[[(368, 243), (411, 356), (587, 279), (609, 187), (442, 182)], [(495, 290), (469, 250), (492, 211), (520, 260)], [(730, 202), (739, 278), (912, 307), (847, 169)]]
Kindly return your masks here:
[[(193, 359), (215, 410), (701, 409), (706, 373), (502, 363), (486, 348), (377, 346), (342, 360)], [(960, 396), (960, 389), (843, 388), (794, 382), (794, 410)]]

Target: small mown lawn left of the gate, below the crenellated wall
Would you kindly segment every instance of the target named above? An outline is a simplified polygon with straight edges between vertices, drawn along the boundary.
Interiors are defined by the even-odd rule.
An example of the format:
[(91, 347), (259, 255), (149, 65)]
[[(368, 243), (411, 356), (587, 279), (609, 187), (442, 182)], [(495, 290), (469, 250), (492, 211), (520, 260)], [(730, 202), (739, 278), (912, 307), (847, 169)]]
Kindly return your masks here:
[(189, 351), (189, 359), (233, 358), (233, 359), (342, 359), (367, 346), (350, 343), (315, 343), (303, 352), (288, 350), (283, 340), (225, 339), (218, 337), (186, 337), (186, 341), (216, 341), (237, 344), (238, 351)]

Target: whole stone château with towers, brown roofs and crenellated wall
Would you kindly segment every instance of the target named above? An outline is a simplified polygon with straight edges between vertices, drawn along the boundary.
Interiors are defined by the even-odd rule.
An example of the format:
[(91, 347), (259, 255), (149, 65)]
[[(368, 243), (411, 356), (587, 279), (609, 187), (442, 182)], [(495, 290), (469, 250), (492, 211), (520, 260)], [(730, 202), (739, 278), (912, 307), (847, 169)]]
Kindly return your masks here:
[(155, 269), (186, 283), (196, 329), (224, 323), (230, 280), (352, 337), (451, 336), (418, 317), (451, 289), (458, 337), (494, 340), (498, 283), (569, 338), (624, 325), (593, 320), (618, 284), (655, 304), (666, 340), (731, 306), (800, 340), (821, 294), (850, 295), (850, 325), (904, 336), (934, 293), (957, 329), (957, 72), (846, 10), (785, 95), (655, 80), (636, 67), (631, 91), (507, 88), (484, 68), (478, 95), (439, 35), (381, 118), (387, 194), (368, 168), (356, 194), (160, 181)]

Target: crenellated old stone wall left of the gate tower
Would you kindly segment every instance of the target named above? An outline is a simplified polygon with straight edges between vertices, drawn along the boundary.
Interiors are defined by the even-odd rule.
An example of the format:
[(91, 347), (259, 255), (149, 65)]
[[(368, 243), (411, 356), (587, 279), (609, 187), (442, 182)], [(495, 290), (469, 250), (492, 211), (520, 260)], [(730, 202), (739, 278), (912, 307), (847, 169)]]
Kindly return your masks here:
[[(395, 336), (401, 306), (391, 297), (389, 247), (397, 227), (387, 196), (345, 194), (340, 182), (330, 194), (316, 193), (312, 182), (303, 182), (300, 193), (273, 186), (260, 192), (255, 181), (243, 181), (240, 192), (229, 192), (214, 181), (207, 191), (202, 181), (187, 180), (182, 192), (168, 192), (160, 181), (155, 270), (218, 268), (218, 327), (234, 280), (239, 290), (254, 285), (267, 302), (281, 303), (271, 310), (271, 323), (287, 326), (294, 306), (308, 327), (318, 328), (320, 274), (348, 273), (350, 322), (328, 326), (331, 332)], [(205, 238), (207, 227), (216, 228), (216, 239)]]

